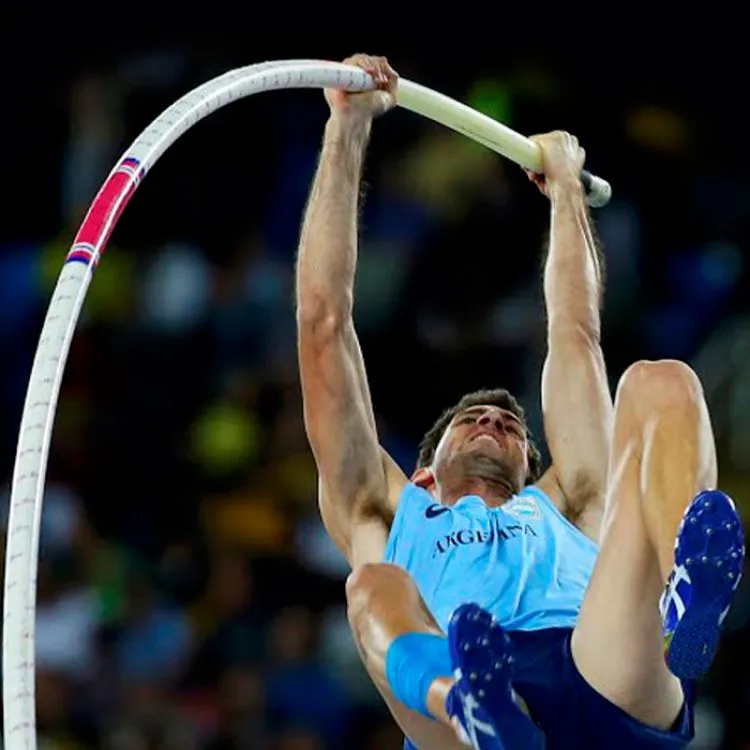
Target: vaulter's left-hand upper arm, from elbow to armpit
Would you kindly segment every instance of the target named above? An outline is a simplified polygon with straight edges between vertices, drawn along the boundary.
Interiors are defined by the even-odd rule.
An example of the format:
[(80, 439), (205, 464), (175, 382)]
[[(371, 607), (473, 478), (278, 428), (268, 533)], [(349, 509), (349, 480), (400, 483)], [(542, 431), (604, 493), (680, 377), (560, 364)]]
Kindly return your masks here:
[(321, 515), (351, 561), (361, 556), (355, 546), (387, 537), (406, 477), (378, 443), (351, 319), (300, 320), (298, 328), (305, 429), (318, 467)]

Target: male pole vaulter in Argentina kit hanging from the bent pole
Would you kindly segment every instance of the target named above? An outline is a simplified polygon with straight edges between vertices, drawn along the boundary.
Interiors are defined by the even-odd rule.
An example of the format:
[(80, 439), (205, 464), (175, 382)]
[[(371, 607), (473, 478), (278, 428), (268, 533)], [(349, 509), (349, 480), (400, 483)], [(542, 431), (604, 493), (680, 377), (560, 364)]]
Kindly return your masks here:
[(423, 750), (684, 747), (693, 681), (744, 559), (734, 506), (711, 489), (700, 383), (682, 363), (640, 362), (613, 407), (584, 152), (566, 133), (541, 136), (544, 175), (532, 178), (551, 205), (552, 465), (540, 473), (515, 399), (482, 391), (428, 432), (409, 481), (378, 444), (352, 324), (362, 162), (396, 75), (383, 58), (347, 62), (378, 90), (326, 91), (297, 318), (320, 509), (353, 568), (349, 617), (365, 666)]

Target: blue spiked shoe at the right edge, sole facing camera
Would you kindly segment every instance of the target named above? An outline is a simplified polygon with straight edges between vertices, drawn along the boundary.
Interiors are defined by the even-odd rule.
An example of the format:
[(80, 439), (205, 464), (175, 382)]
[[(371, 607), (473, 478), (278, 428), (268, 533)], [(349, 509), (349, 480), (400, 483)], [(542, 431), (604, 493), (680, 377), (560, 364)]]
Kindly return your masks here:
[(667, 666), (676, 677), (696, 680), (711, 666), (744, 558), (734, 503), (719, 490), (701, 492), (680, 523), (674, 569), (659, 603)]

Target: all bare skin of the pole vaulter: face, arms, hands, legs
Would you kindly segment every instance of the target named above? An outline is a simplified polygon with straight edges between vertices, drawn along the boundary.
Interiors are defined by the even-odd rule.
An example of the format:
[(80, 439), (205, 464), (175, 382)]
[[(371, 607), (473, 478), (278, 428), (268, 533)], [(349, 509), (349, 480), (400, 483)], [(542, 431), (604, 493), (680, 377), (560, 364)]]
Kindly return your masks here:
[[(440, 630), (408, 574), (381, 562), (409, 480), (379, 445), (352, 320), (362, 165), (373, 120), (395, 104), (397, 76), (385, 58), (357, 55), (346, 62), (368, 71), (378, 90), (325, 92), (330, 117), (297, 264), (305, 428), (319, 472), (323, 521), (352, 566), (349, 619), (368, 672), (418, 747), (454, 748), (460, 745), (444, 709), (450, 676), (436, 680), (430, 690), (437, 721), (396, 701), (384, 676), (385, 654), (394, 638)], [(663, 728), (674, 721), (682, 692), (657, 648), (657, 602), (671, 568), (679, 518), (693, 490), (713, 479), (710, 424), (697, 379), (679, 364), (631, 368), (618, 390), (615, 416), (600, 346), (602, 273), (578, 178), (585, 153), (567, 133), (536, 141), (543, 175), (529, 176), (550, 203), (544, 270), (548, 351), (541, 395), (552, 455), (537, 486), (582, 533), (601, 543), (573, 654), (597, 690), (635, 718)], [(689, 387), (664, 387), (678, 380)], [(693, 416), (683, 414), (682, 422), (673, 404), (676, 393), (695, 405)], [(672, 401), (665, 406), (668, 398)], [(680, 402), (680, 410), (684, 405)], [(669, 419), (659, 416), (667, 412)], [(675, 440), (678, 430), (681, 439)], [(695, 458), (685, 463), (676, 446), (690, 443), (693, 435), (700, 448), (686, 447)], [(513, 415), (495, 406), (474, 407), (454, 417), (432, 466), (412, 480), (441, 503), (476, 494), (488, 505), (500, 505), (524, 485), (526, 448), (526, 432)], [(637, 468), (644, 466), (647, 452), (645, 479), (639, 484)], [(675, 467), (669, 481), (662, 462)], [(686, 466), (691, 467), (687, 478), (680, 473)], [(610, 473), (615, 478), (608, 486)], [(614, 641), (612, 633), (617, 633)]]

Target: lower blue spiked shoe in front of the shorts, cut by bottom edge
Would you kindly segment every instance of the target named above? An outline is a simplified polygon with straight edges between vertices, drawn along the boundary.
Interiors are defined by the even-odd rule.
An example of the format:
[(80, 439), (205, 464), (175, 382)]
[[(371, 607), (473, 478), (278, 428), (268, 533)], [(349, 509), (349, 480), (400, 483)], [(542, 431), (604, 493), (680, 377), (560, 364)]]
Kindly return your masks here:
[(513, 647), (497, 620), (461, 605), (448, 625), (455, 683), (446, 708), (464, 744), (475, 750), (543, 750), (544, 736), (518, 704)]

